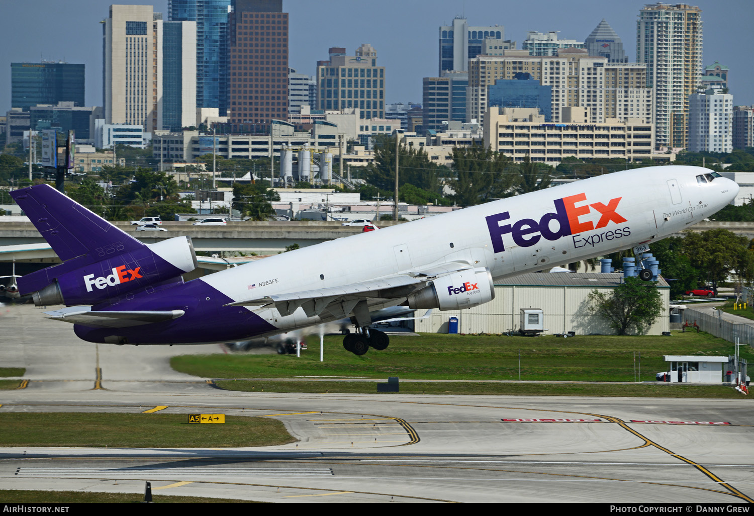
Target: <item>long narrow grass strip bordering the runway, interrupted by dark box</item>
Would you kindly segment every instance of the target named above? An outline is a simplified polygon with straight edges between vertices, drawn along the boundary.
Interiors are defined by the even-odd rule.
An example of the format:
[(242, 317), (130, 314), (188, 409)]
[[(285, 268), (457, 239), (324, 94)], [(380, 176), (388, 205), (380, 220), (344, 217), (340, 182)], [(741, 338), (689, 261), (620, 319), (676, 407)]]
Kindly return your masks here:
[[(222, 389), (243, 392), (320, 392), (328, 394), (375, 394), (377, 382), (275, 382), (221, 380)], [(526, 395), (599, 396), (627, 398), (716, 398), (741, 399), (723, 385), (631, 385), (604, 383), (482, 383), (482, 382), (400, 382), (401, 394), (426, 395)]]

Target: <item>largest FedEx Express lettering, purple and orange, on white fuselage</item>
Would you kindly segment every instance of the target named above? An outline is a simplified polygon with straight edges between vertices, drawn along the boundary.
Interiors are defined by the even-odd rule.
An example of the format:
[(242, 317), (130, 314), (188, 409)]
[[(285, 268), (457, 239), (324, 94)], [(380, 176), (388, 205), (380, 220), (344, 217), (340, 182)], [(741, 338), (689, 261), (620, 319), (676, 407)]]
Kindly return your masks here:
[[(503, 226), (500, 223), (503, 220), (510, 219), (510, 213), (507, 211), (495, 213), (495, 215), (486, 217), (489, 238), (492, 239), (492, 249), (495, 253), (501, 253), (505, 250), (502, 236), (507, 235), (507, 233), (513, 236), (513, 241), (516, 245), (530, 247), (540, 241), (542, 237), (549, 241), (555, 241), (564, 236), (580, 235), (583, 232), (604, 228), (610, 222), (616, 224), (628, 222), (616, 211), (621, 199), (622, 197), (616, 197), (611, 199), (608, 204), (602, 204), (601, 202), (580, 204), (587, 200), (585, 193), (569, 195), (569, 197), (555, 199), (553, 201), (553, 204), (555, 204), (555, 213), (545, 213), (538, 221), (534, 219), (521, 219), (513, 224), (504, 224)], [(596, 224), (591, 220), (584, 220), (583, 222), (580, 220), (580, 217), (590, 214), (591, 208), (600, 213), (599, 221)], [(551, 224), (553, 221), (556, 222), (556, 228), (554, 229)], [(602, 232), (598, 235), (590, 235), (585, 238), (576, 238), (576, 236), (573, 238), (575, 247), (584, 247), (585, 245), (590, 244), (593, 246), (603, 240), (612, 240), (613, 238), (621, 238), (630, 234), (630, 229), (626, 227), (615, 229), (615, 231)]]

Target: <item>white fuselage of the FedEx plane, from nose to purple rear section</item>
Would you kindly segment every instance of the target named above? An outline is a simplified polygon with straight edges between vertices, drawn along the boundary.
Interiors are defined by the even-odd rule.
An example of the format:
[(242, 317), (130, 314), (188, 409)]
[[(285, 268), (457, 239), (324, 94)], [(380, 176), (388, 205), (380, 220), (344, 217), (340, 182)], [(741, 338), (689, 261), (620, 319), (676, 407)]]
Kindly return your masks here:
[[(667, 237), (722, 209), (738, 186), (722, 177), (697, 180), (709, 172), (688, 166), (616, 172), (338, 238), (199, 281), (241, 301), (415, 275), (451, 262), (486, 267), (493, 278), (550, 269)], [(302, 309), (284, 317), (274, 307), (247, 309), (280, 330), (329, 321)]]

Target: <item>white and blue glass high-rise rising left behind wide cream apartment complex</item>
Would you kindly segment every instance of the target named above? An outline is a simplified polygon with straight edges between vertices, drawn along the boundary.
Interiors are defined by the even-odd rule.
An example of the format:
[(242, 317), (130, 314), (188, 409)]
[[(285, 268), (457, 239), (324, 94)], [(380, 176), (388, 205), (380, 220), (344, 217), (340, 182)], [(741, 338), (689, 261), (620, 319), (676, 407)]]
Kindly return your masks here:
[[(468, 60), (483, 54), (482, 45), (486, 38), (504, 40), (505, 29), (501, 25), (469, 26), (466, 18), (455, 17), (452, 25), (440, 27), (440, 69), (466, 72)], [(505, 41), (510, 48), (515, 43)]]

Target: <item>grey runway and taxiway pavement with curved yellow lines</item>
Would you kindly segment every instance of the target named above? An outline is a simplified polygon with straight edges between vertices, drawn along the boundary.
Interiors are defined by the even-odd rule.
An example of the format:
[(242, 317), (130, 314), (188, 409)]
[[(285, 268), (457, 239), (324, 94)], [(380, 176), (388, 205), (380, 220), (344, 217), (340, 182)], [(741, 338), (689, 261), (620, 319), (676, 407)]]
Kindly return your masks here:
[[(5, 309), (4, 309), (5, 310)], [(94, 346), (3, 312), (11, 412), (225, 413), (299, 441), (237, 449), (0, 448), (0, 489), (270, 502), (752, 502), (751, 401), (229, 392), (170, 370), (202, 346)], [(179, 349), (184, 348), (184, 349)], [(54, 432), (54, 428), (51, 428)]]

